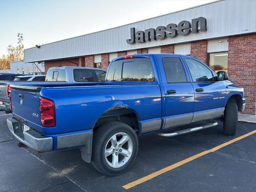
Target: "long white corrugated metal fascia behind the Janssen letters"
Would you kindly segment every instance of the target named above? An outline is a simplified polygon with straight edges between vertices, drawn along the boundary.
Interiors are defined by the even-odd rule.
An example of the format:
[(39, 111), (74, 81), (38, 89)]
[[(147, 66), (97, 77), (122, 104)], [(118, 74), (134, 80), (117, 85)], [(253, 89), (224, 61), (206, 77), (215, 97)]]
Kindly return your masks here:
[[(200, 16), (207, 20), (207, 32), (199, 31), (196, 34), (178, 35), (175, 38), (152, 40), (144, 43), (126, 43), (126, 39), (130, 38), (131, 27), (135, 27), (136, 31), (145, 30), (160, 25), (166, 26), (169, 23), (178, 24), (182, 20), (191, 22), (193, 18)], [(222, 0), (101, 32), (45, 44), (40, 49), (29, 48), (24, 50), (24, 57), (25, 62), (44, 61), (221, 38), (252, 32), (256, 32), (256, 0)]]

